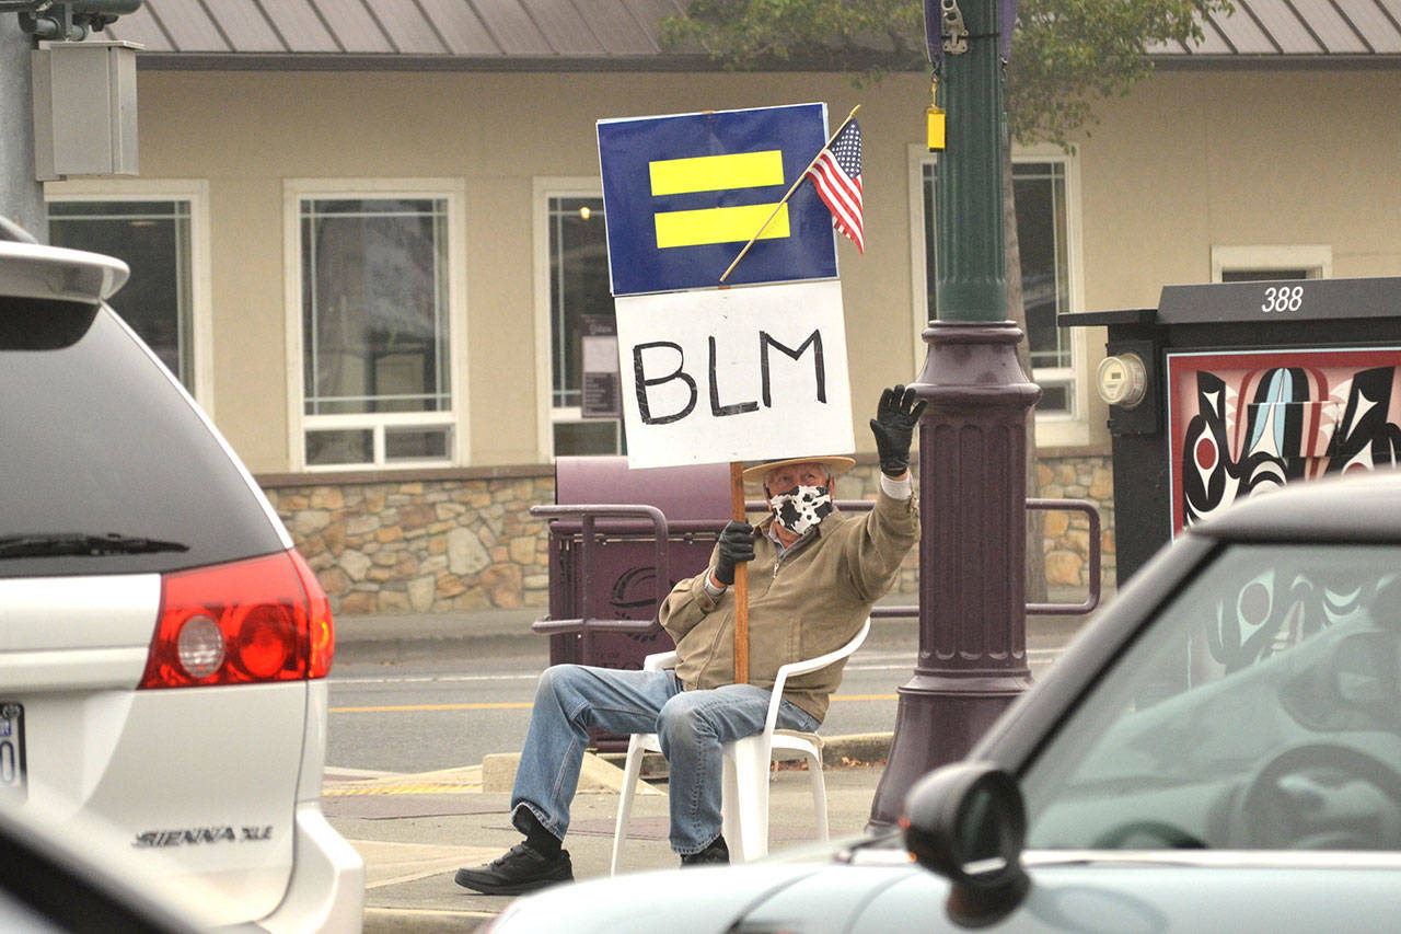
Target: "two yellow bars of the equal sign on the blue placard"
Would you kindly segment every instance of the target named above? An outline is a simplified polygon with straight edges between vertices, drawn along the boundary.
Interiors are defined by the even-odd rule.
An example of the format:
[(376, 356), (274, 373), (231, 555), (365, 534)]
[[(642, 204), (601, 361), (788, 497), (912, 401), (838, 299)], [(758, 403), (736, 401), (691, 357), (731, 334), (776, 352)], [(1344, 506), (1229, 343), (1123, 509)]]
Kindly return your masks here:
[[(769, 149), (758, 153), (696, 156), (647, 163), (651, 195), (684, 195), (699, 191), (731, 191), (783, 184), (783, 153)], [(708, 243), (744, 243), (773, 213), (776, 202), (706, 208), (700, 210), (664, 210), (654, 215), (657, 247), (696, 247)], [(761, 240), (789, 236), (787, 205), (783, 205)]]

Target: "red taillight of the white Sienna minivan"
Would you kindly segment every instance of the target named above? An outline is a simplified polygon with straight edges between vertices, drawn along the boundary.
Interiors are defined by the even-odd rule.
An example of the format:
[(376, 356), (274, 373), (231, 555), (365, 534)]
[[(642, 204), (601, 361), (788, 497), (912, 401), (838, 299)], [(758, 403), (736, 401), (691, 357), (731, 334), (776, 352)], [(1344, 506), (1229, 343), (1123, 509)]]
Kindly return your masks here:
[(331, 604), (296, 551), (161, 576), (161, 613), (139, 687), (325, 677)]

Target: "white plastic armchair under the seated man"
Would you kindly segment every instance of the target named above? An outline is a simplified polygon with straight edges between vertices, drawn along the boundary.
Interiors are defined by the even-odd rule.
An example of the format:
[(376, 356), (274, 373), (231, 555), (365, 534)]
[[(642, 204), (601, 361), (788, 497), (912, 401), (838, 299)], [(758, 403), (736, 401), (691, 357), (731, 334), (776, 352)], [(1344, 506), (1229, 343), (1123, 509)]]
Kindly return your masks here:
[[(807, 762), (808, 778), (813, 783), (813, 804), (817, 811), (817, 833), (820, 840), (828, 839), (827, 830), (827, 785), (822, 781), (822, 738), (817, 733), (803, 733), (793, 729), (775, 729), (779, 715), (779, 701), (783, 698), (783, 684), (794, 675), (806, 675), (827, 668), (860, 648), (871, 631), (870, 617), (862, 624), (850, 642), (842, 648), (803, 662), (789, 662), (778, 670), (773, 680), (773, 696), (764, 731), (724, 745), (724, 785), (722, 788), (722, 815), (724, 818), (726, 844), (730, 858), (736, 862), (758, 860), (769, 851), (769, 762), (776, 753), (779, 759), (801, 757)], [(649, 655), (642, 668), (644, 672), (660, 672), (677, 666), (675, 652)], [(656, 733), (633, 733), (628, 740), (628, 759), (623, 764), (623, 783), (618, 795), (618, 822), (614, 827), (614, 853), (609, 874), (618, 874), (618, 858), (622, 843), (628, 837), (628, 818), (632, 813), (632, 799), (642, 774), (642, 759), (649, 752), (661, 752)]]

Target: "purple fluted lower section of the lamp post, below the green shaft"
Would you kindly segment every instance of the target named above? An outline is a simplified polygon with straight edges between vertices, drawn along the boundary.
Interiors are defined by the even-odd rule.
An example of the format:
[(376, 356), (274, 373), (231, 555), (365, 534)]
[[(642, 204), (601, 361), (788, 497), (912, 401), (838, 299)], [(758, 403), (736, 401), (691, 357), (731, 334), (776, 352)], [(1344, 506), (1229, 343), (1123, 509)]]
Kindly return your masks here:
[(932, 321), (919, 425), (919, 659), (899, 689), (871, 825), (962, 759), (1031, 683), (1026, 625), (1026, 419), (1041, 395), (1012, 321)]

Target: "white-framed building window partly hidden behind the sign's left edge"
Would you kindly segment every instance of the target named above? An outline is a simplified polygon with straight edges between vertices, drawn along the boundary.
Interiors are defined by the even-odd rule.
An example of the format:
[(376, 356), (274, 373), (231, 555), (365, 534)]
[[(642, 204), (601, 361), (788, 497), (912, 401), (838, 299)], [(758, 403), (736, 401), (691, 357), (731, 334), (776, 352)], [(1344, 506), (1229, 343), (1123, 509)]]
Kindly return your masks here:
[(621, 418), (584, 398), (584, 344), (615, 327), (604, 202), (598, 195), (546, 194), (545, 199), (551, 450), (556, 457), (623, 453)]

